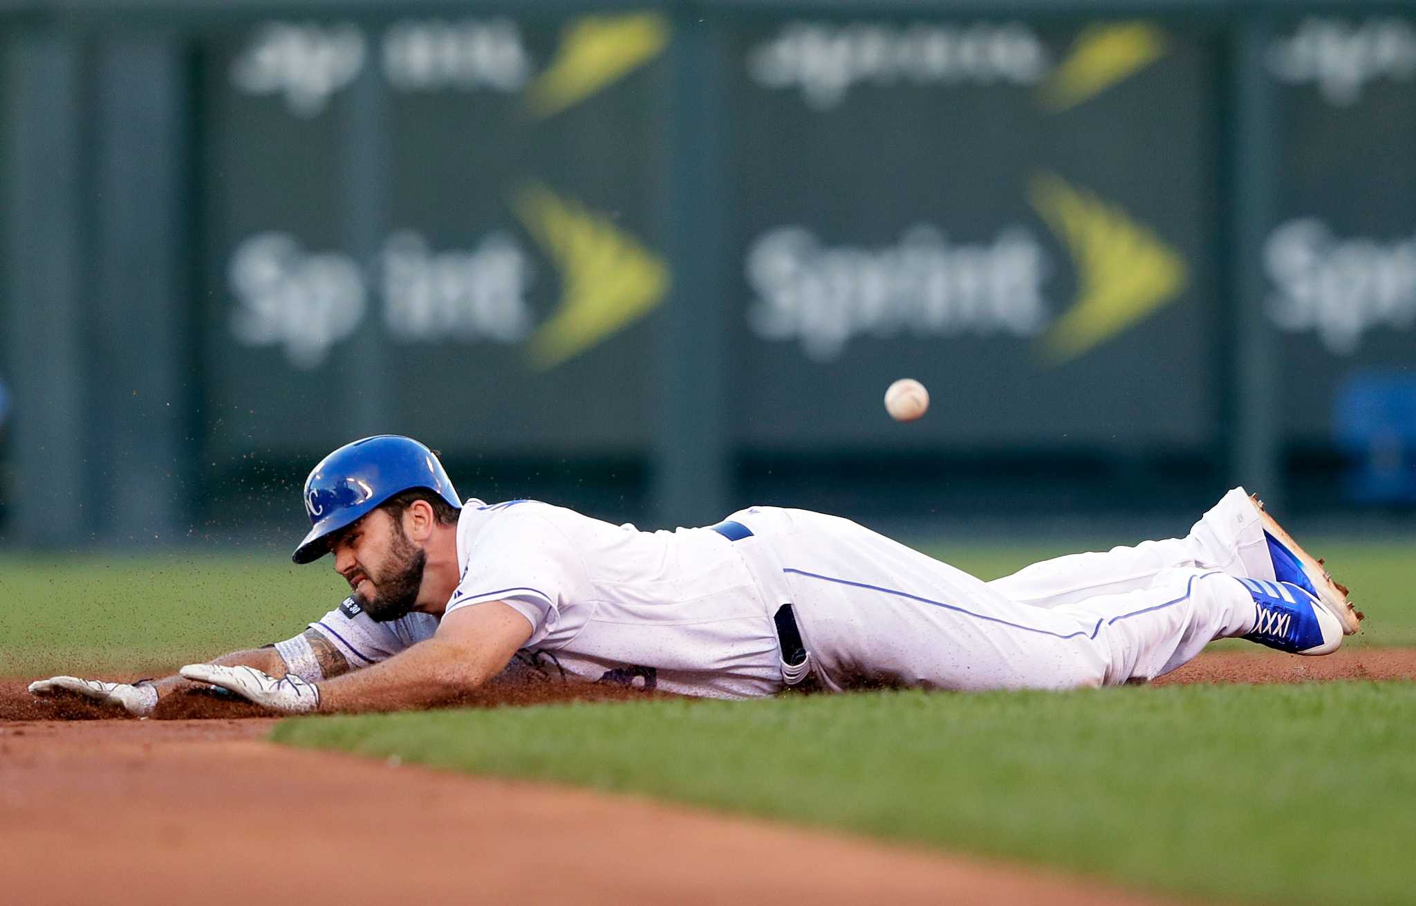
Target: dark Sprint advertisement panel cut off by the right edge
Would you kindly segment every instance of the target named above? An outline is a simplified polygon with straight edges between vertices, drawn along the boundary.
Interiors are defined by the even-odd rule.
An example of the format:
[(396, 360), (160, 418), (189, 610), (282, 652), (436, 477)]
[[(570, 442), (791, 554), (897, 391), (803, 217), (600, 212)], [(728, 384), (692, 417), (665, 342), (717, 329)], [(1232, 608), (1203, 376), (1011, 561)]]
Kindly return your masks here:
[(1267, 65), (1284, 154), (1264, 310), (1280, 336), (1284, 429), (1300, 445), (1368, 447), (1409, 469), (1416, 18), (1296, 20), (1274, 35)]

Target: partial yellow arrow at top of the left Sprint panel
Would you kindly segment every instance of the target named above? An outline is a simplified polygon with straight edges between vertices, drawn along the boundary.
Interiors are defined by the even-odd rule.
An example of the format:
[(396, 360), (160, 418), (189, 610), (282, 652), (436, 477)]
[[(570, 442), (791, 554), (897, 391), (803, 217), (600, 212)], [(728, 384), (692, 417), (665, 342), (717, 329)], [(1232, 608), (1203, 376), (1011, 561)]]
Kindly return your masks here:
[(573, 20), (551, 65), (530, 88), (531, 113), (551, 116), (585, 101), (661, 54), (668, 37), (668, 18), (660, 13)]

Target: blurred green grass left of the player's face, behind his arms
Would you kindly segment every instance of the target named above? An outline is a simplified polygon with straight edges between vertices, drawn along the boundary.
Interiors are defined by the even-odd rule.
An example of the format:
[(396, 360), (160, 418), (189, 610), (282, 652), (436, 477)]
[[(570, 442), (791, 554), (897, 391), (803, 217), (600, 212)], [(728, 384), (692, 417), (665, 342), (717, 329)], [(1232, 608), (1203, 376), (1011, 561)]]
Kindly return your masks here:
[(0, 677), (177, 667), (259, 647), (346, 593), (327, 562), (299, 568), (279, 554), (0, 556)]

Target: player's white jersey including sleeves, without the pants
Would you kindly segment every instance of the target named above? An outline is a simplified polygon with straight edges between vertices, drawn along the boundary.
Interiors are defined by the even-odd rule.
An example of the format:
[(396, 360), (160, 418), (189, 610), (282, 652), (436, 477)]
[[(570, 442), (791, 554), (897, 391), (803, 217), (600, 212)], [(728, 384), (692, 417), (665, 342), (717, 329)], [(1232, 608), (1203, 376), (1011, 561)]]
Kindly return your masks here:
[[(538, 501), (469, 500), (447, 613), (500, 600), (531, 624), (542, 671), (685, 695), (782, 688), (772, 616), (732, 542), (708, 528), (641, 532)], [(432, 636), (438, 620), (375, 623), (346, 603), (312, 627), (362, 667)]]

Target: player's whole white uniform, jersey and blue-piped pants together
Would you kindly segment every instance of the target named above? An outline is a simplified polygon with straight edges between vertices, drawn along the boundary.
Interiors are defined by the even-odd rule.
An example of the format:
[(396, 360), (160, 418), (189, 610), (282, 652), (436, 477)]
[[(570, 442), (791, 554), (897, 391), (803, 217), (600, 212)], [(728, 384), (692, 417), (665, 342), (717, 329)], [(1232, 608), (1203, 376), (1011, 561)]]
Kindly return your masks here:
[[(531, 626), (511, 668), (687, 695), (784, 685), (772, 614), (792, 603), (828, 689), (1076, 688), (1148, 680), (1253, 629), (1238, 576), (1273, 579), (1242, 488), (1185, 538), (1079, 554), (983, 582), (848, 520), (752, 507), (711, 528), (641, 532), (537, 501), (470, 500), (447, 612), (500, 600)], [(346, 602), (312, 627), (354, 667), (430, 637)]]

